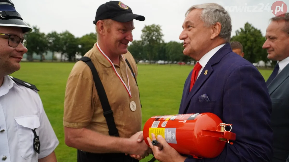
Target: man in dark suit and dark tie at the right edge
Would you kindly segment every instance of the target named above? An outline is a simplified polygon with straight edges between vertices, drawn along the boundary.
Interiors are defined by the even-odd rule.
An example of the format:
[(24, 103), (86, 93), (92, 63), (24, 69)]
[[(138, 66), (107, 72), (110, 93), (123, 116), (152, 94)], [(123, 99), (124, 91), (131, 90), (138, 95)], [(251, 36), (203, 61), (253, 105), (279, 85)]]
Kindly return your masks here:
[(263, 48), (277, 61), (266, 82), (273, 104), (273, 162), (289, 162), (289, 13), (271, 18)]

